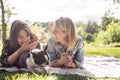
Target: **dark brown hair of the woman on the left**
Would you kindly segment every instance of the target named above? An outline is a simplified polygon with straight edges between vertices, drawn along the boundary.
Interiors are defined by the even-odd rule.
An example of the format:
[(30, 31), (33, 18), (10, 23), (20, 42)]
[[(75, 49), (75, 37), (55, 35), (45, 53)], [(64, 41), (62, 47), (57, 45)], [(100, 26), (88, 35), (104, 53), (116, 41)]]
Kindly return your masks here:
[(32, 37), (32, 31), (30, 29), (30, 26), (21, 20), (15, 20), (12, 23), (10, 29), (10, 48), (12, 49), (16, 50), (20, 47), (20, 45), (17, 42), (17, 37), (19, 35), (20, 30), (25, 30), (28, 33), (28, 35)]

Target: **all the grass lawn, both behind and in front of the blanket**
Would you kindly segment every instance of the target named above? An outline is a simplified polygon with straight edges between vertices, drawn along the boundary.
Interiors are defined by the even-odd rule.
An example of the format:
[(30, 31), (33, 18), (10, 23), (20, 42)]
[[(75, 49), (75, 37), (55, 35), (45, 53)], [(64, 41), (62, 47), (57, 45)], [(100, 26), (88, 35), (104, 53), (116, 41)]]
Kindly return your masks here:
[[(0, 47), (1, 51), (1, 47)], [(85, 56), (114, 56), (120, 59), (120, 48), (85, 47)], [(119, 80), (117, 78), (88, 78), (78, 75), (40, 74), (0, 71), (0, 80)]]

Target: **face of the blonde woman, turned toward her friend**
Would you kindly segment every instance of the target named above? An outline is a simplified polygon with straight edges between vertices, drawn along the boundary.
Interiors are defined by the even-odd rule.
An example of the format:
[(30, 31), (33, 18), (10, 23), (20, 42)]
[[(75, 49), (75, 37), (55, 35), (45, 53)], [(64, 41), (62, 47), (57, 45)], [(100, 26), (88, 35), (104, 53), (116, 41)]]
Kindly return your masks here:
[(53, 31), (53, 37), (56, 42), (63, 42), (66, 38), (66, 33), (62, 31), (59, 27), (55, 27)]

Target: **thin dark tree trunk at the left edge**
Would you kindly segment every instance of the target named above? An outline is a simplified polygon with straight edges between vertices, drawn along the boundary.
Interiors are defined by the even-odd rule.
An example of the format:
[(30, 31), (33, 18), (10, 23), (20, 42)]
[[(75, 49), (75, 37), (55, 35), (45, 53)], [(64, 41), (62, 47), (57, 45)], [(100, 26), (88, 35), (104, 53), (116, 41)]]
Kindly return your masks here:
[(0, 0), (1, 2), (1, 12), (2, 12), (2, 42), (6, 39), (6, 23), (5, 23), (5, 12), (4, 12), (4, 4), (3, 0)]

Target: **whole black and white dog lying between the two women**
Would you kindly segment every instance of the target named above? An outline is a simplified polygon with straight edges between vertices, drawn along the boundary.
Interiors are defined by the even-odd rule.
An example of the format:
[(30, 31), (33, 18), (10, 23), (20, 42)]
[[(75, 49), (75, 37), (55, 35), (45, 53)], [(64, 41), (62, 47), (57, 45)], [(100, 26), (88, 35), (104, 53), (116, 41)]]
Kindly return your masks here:
[(44, 67), (48, 65), (48, 54), (45, 49), (34, 49), (31, 52), (23, 53), (19, 58), (20, 66), (23, 68)]

